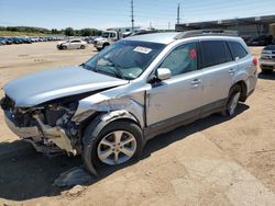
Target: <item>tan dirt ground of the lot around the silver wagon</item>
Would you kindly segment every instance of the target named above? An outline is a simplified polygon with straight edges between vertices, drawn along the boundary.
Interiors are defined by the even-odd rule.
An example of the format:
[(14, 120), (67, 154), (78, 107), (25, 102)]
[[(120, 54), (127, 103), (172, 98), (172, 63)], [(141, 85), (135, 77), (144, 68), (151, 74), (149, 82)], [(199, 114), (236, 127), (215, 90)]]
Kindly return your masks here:
[[(0, 47), (0, 87), (26, 73), (79, 65), (95, 49), (57, 50), (56, 43)], [(251, 48), (258, 56), (262, 48)], [(41, 82), (51, 83), (51, 82)], [(35, 87), (35, 85), (34, 85)], [(233, 118), (211, 115), (148, 141), (140, 161), (100, 169), (91, 184), (53, 181), (79, 157), (48, 159), (18, 140), (0, 112), (2, 205), (275, 205), (275, 73)], [(3, 92), (1, 90), (0, 95)]]

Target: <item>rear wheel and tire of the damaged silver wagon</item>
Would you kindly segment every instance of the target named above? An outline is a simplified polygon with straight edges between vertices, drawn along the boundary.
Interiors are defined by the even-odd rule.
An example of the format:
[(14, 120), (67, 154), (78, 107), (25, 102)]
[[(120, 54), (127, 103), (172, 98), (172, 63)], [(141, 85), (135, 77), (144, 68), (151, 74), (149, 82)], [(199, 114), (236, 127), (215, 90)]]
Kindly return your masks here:
[(235, 84), (230, 89), (226, 108), (221, 113), (223, 116), (233, 116), (235, 114), (241, 93), (242, 89), (239, 84)]

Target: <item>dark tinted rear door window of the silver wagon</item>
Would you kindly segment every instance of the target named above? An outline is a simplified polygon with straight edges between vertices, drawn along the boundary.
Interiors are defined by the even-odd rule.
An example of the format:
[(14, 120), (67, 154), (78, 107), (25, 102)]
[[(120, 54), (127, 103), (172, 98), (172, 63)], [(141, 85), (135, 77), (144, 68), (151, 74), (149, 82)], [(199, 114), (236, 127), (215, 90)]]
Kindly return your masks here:
[(204, 41), (200, 46), (202, 68), (227, 62), (223, 41)]

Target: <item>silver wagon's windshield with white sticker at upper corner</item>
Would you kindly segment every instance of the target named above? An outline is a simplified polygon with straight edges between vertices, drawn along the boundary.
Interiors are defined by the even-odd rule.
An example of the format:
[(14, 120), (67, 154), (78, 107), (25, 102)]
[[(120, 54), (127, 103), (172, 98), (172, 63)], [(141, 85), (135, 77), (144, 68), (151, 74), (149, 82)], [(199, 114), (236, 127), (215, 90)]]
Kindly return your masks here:
[(141, 76), (164, 47), (164, 44), (120, 41), (82, 66), (88, 70), (132, 80)]

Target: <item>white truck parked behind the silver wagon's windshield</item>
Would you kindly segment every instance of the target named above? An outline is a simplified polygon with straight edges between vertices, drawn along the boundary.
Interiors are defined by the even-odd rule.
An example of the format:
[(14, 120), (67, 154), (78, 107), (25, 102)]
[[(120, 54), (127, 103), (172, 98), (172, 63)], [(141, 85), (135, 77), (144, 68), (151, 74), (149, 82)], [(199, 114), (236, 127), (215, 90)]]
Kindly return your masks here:
[(116, 43), (117, 41), (122, 38), (122, 33), (117, 31), (106, 31), (102, 33), (102, 35), (95, 39), (94, 46), (101, 50), (105, 47)]

